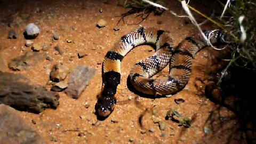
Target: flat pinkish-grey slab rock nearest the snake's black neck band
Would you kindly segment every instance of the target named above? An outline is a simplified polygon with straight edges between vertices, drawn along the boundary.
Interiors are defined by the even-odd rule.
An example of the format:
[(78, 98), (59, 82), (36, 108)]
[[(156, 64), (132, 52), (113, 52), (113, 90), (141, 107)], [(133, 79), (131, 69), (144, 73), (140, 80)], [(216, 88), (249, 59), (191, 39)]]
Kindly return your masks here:
[(95, 75), (95, 69), (86, 66), (76, 66), (69, 74), (68, 88), (65, 93), (71, 98), (79, 98), (91, 78)]

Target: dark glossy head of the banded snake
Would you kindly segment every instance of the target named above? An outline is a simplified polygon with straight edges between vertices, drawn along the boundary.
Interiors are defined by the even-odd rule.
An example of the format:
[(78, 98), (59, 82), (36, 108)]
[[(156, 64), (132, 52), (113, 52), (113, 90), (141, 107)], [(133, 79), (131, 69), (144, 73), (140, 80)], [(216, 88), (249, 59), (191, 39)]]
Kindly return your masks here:
[(116, 98), (114, 97), (99, 97), (96, 103), (97, 112), (101, 117), (109, 116), (115, 108)]

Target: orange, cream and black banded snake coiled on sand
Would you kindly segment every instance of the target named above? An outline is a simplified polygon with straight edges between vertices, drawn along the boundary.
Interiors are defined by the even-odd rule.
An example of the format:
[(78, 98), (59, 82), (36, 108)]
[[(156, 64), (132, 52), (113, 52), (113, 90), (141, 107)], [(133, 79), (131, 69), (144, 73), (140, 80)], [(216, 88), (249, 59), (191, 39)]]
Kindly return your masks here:
[[(186, 37), (173, 47), (170, 33), (165, 30), (140, 27), (131, 31), (122, 36), (103, 59), (102, 86), (95, 104), (96, 112), (101, 117), (108, 117), (113, 112), (118, 91), (121, 89), (121, 62), (134, 47), (143, 44), (155, 46), (156, 51), (153, 55), (135, 63), (128, 79), (135, 90), (157, 97), (182, 90), (189, 81), (196, 53), (212, 44), (227, 43), (228, 39), (228, 35), (222, 30), (203, 30), (202, 33)], [(152, 78), (167, 65), (168, 76)]]

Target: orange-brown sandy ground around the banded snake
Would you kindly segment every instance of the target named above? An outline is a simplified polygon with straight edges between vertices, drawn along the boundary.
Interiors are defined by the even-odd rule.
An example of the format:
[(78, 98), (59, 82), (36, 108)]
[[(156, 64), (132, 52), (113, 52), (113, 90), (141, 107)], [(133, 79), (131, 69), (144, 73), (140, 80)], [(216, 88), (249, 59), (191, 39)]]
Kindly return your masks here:
[[(171, 98), (150, 99), (131, 92), (126, 85), (126, 79), (135, 62), (148, 57), (154, 50), (147, 45), (132, 50), (122, 62), (121, 91), (114, 112), (105, 121), (99, 121), (94, 114), (94, 105), (101, 88), (101, 62), (111, 46), (121, 36), (139, 27), (156, 27), (170, 31), (173, 45), (183, 38), (197, 33), (196, 28), (187, 18), (174, 17), (165, 11), (162, 15), (150, 14), (138, 25), (127, 25), (122, 21), (117, 25), (120, 15), (128, 9), (118, 5), (116, 1), (0, 1), (0, 57), (9, 62), (11, 59), (31, 51), (24, 47), (24, 27), (34, 22), (41, 33), (34, 43), (51, 44), (47, 54), (53, 61), (44, 60), (28, 70), (8, 72), (27, 76), (31, 83), (47, 86), (49, 74), (47, 69), (55, 63), (71, 68), (85, 65), (97, 70), (90, 84), (81, 97), (71, 99), (60, 92), (60, 105), (57, 109), (46, 109), (41, 114), (21, 111), (23, 119), (41, 135), (47, 143), (243, 143), (244, 133), (239, 131), (239, 123), (234, 113), (227, 108), (215, 105), (204, 96), (204, 82), (209, 77), (205, 71), (210, 70), (209, 64), (214, 52), (208, 47), (196, 55), (193, 73), (184, 90)], [(123, 2), (119, 3), (123, 4)], [(205, 4), (191, 4), (210, 14), (212, 7)], [(185, 14), (177, 1), (164, 3), (170, 10)], [(102, 10), (102, 12), (100, 12)], [(218, 12), (218, 11), (217, 11)], [(136, 23), (140, 18), (129, 15), (127, 23)], [(9, 27), (12, 21), (21, 21), (19, 26)], [(27, 21), (24, 21), (27, 18)], [(17, 20), (18, 19), (18, 20)], [(95, 25), (100, 19), (107, 21), (106, 27)], [(203, 19), (197, 17), (199, 21)], [(18, 22), (19, 23), (19, 22)], [(211, 28), (206, 23), (203, 28)], [(120, 30), (115, 31), (114, 28)], [(8, 31), (14, 29), (17, 39), (7, 39)], [(52, 40), (53, 32), (60, 35), (57, 41)], [(67, 41), (71, 43), (67, 43)], [(63, 55), (53, 49), (58, 45)], [(150, 51), (153, 50), (153, 51)], [(78, 59), (77, 53), (84, 51), (87, 55)], [(211, 62), (210, 62), (211, 63)], [(168, 74), (164, 69), (161, 75)], [(67, 82), (68, 77), (65, 79)], [(198, 81), (197, 79), (201, 79)], [(129, 100), (128, 98), (131, 98)], [(184, 99), (177, 104), (174, 99)], [(86, 107), (85, 107), (86, 106)], [(183, 116), (192, 118), (189, 128), (165, 119), (171, 108), (178, 108)], [(141, 123), (139, 123), (139, 119)], [(159, 129), (157, 122), (164, 124), (165, 130)]]

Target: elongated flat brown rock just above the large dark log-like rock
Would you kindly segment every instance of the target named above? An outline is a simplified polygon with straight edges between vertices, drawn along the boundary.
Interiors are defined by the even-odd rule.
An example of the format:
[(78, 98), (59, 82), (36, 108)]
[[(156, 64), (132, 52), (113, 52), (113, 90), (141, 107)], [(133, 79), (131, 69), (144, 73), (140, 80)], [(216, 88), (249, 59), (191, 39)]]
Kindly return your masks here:
[(46, 53), (27, 52), (8, 63), (8, 67), (13, 70), (26, 70), (31, 66), (37, 65), (40, 61), (46, 59)]

